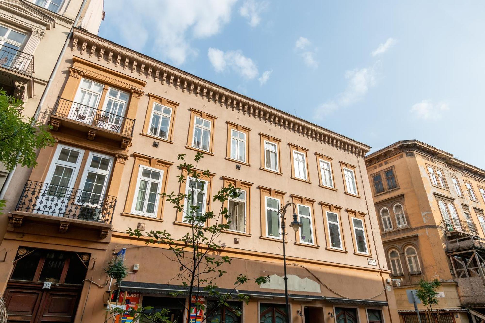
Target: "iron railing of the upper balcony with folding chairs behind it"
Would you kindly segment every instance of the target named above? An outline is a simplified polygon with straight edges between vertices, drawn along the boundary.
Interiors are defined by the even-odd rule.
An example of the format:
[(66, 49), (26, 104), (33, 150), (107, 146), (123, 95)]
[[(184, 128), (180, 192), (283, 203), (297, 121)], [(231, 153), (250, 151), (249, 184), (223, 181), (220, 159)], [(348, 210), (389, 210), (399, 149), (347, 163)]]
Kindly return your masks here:
[(57, 98), (52, 114), (100, 129), (133, 136), (135, 120), (62, 97)]

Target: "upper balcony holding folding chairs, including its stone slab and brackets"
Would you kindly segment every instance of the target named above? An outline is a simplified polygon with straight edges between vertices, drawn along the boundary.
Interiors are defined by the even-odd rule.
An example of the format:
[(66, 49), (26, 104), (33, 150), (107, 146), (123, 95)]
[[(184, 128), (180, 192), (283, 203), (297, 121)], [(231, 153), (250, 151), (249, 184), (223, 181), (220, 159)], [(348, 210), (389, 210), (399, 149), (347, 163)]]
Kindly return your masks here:
[(66, 128), (87, 133), (89, 140), (96, 136), (114, 140), (126, 149), (133, 136), (135, 120), (58, 97), (50, 124), (55, 131), (63, 124)]

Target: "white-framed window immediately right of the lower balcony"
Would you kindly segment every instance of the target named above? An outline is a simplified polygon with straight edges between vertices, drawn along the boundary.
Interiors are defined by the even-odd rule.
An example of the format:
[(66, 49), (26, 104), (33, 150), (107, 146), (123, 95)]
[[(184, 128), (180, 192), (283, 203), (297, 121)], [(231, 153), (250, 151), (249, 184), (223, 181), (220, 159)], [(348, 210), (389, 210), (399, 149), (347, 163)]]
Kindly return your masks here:
[(135, 189), (133, 213), (156, 217), (163, 171), (140, 166)]

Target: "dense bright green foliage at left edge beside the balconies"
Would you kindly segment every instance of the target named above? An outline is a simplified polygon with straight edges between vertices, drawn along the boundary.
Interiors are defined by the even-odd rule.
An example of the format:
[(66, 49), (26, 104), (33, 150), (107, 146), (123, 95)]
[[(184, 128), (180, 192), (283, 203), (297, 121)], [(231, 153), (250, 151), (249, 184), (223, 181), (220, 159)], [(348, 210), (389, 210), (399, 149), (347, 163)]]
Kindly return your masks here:
[(8, 171), (17, 163), (35, 167), (36, 150), (54, 143), (48, 126), (22, 113), (23, 104), (0, 90), (0, 161)]

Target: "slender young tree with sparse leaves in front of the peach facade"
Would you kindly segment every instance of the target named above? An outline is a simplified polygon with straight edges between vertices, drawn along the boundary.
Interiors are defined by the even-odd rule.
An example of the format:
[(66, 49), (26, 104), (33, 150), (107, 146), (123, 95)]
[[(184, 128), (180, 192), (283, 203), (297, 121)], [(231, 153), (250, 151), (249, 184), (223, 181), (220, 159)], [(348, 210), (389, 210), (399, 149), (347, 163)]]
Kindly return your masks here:
[[(172, 252), (173, 257), (170, 260), (177, 264), (174, 266), (180, 267), (180, 272), (174, 277), (178, 279), (181, 284), (181, 291), (171, 293), (173, 296), (187, 295), (189, 297), (188, 307), (186, 310), (190, 313), (192, 310), (191, 299), (192, 296), (198, 298), (199, 294), (214, 299), (216, 305), (210, 308), (211, 312), (217, 310), (222, 306), (228, 306), (227, 301), (230, 299), (237, 299), (249, 302), (249, 296), (235, 292), (242, 284), (253, 281), (258, 285), (269, 281), (269, 276), (260, 276), (257, 278), (248, 278), (246, 275), (239, 274), (234, 282), (233, 289), (221, 293), (216, 281), (218, 278), (226, 274), (224, 270), (226, 266), (231, 264), (231, 258), (228, 256), (214, 256), (222, 251), (223, 246), (216, 243), (219, 241), (220, 235), (227, 229), (230, 224), (230, 214), (225, 207), (226, 201), (229, 198), (236, 198), (239, 196), (238, 188), (230, 185), (223, 187), (212, 198), (212, 202), (219, 202), (221, 204), (218, 212), (213, 210), (202, 212), (202, 203), (208, 203), (208, 200), (197, 201), (194, 198), (194, 190), (204, 190), (206, 182), (203, 178), (209, 178), (209, 170), (201, 171), (197, 169), (198, 162), (203, 158), (202, 153), (197, 153), (194, 157), (195, 165), (185, 161), (185, 154), (179, 154), (177, 160), (180, 164), (177, 168), (180, 170), (178, 175), (178, 182), (184, 183), (189, 187), (188, 194), (179, 193), (161, 194), (167, 202), (171, 203), (174, 208), (183, 214), (183, 221), (190, 225), (189, 232), (182, 237), (174, 238), (168, 231), (150, 231), (142, 233), (140, 230), (131, 228), (128, 229), (130, 236), (137, 238), (145, 238), (147, 244), (163, 244), (168, 250)], [(224, 266), (225, 265), (225, 266)], [(224, 266), (224, 267), (223, 267)], [(173, 278), (172, 278), (173, 279)], [(172, 280), (171, 279), (171, 280)], [(203, 304), (195, 303), (196, 309), (206, 309)], [(157, 312), (154, 314), (147, 314), (147, 310), (152, 307), (139, 307), (138, 309), (129, 308), (113, 309), (114, 315), (129, 314), (133, 316), (134, 320), (143, 319), (144, 322), (158, 322), (171, 323), (168, 319), (168, 311)], [(241, 309), (236, 308), (236, 314), (241, 315)], [(206, 315), (206, 316), (207, 316)], [(205, 322), (204, 319), (203, 322)]]

